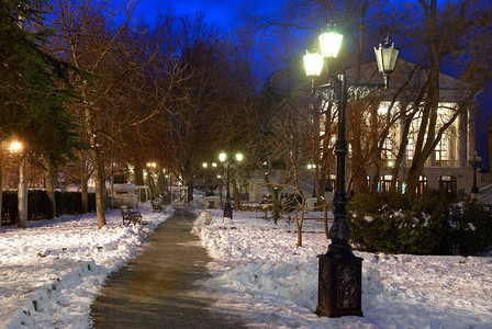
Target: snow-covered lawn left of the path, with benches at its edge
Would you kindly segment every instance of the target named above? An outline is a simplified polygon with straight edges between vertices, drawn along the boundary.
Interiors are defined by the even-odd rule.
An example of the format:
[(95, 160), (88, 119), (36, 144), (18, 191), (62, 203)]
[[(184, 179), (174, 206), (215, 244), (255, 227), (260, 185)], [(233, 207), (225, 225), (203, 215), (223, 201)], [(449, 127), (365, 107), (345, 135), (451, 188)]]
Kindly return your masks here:
[(147, 225), (123, 226), (120, 209), (0, 228), (0, 328), (89, 328), (90, 305), (108, 275), (142, 252), (172, 209), (138, 208)]

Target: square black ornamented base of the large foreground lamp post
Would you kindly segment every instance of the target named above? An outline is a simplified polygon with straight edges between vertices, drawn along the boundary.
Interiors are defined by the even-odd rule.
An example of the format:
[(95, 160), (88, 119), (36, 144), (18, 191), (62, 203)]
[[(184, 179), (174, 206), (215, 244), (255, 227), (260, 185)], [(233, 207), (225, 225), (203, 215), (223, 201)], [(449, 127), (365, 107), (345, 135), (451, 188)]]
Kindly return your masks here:
[(318, 317), (362, 317), (362, 259), (320, 254)]

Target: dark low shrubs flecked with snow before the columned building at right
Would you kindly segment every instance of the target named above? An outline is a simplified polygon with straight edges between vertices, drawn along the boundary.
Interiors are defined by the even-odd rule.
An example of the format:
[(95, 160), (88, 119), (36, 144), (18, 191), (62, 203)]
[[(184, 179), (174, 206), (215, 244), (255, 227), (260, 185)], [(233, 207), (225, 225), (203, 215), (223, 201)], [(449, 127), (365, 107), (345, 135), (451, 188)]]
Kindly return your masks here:
[(492, 246), (492, 213), (473, 198), (452, 205), (429, 192), (424, 197), (366, 193), (348, 205), (351, 241), (371, 252), (481, 254)]

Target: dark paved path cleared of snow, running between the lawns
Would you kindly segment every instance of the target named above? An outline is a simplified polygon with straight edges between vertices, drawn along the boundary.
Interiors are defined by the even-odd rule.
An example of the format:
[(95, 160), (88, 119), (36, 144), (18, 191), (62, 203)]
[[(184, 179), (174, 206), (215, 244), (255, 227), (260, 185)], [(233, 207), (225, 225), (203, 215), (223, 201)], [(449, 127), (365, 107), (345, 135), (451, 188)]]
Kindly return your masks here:
[(211, 261), (190, 234), (195, 216), (176, 209), (152, 235), (144, 253), (111, 275), (91, 306), (94, 328), (241, 328), (226, 310), (195, 294)]

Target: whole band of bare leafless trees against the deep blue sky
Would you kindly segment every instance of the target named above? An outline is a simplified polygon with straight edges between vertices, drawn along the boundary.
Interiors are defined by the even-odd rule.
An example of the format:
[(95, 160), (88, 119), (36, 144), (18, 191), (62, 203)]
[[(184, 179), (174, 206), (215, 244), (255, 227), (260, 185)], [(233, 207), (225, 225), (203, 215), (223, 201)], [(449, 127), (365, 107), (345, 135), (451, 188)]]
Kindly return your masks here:
[[(338, 107), (328, 94), (311, 92), (300, 57), (314, 31), (328, 22), (335, 22), (348, 41), (333, 72), (350, 67), (355, 81), (377, 79), (368, 77), (367, 58), (373, 61), (369, 45), (387, 32), (413, 63), (399, 69), (393, 93), (351, 99), (348, 104), (349, 184), (357, 192), (367, 189), (367, 170), (382, 166), (384, 141), (395, 124), (404, 134), (395, 143), (400, 148), (394, 150), (393, 177), (401, 170), (407, 134), (420, 132), (405, 178), (412, 191), (446, 127), (470, 112), (490, 80), (488, 1), (288, 1), (277, 15), (245, 15), (243, 26), (228, 33), (208, 24), (201, 13), (178, 18), (172, 10), (149, 25), (135, 19), (134, 0), (119, 7), (92, 0), (25, 2), (35, 14), (26, 15), (21, 30), (51, 31), (37, 46), (62, 60), (53, 67), (66, 67), (60, 76), (75, 95), (59, 103), (65, 118), (44, 124), (62, 127), (65, 137), (58, 139), (74, 143), (46, 134), (47, 151), (29, 152), (43, 160), (33, 163), (42, 166), (47, 178), (70, 161), (83, 196), (89, 178), (94, 178), (99, 227), (105, 225), (107, 179), (132, 167), (141, 184), (149, 160), (191, 189), (202, 161), (221, 149), (242, 150), (249, 164), (245, 168), (261, 173), (277, 203), (281, 189), (298, 186), (301, 168), (313, 161), (317, 190), (324, 191), (334, 162)], [(18, 12), (13, 9), (11, 14)], [(444, 118), (438, 115), (439, 73), (455, 63), (461, 94), (454, 114)], [(12, 66), (7, 59), (2, 64), (2, 69)], [(268, 76), (272, 68), (282, 69)], [(15, 83), (9, 86), (19, 90)], [(385, 114), (378, 111), (382, 101), (389, 104)], [(420, 127), (412, 126), (415, 118)], [(3, 138), (13, 132), (7, 127), (2, 123)], [(280, 180), (272, 181), (275, 171), (282, 172)]]

